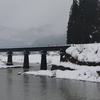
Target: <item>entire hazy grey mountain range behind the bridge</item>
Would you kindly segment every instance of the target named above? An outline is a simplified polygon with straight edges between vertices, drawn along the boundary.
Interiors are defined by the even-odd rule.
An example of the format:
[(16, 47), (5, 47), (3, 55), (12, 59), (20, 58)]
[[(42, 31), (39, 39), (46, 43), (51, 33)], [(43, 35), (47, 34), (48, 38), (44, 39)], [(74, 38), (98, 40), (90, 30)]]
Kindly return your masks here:
[(62, 44), (65, 43), (65, 37), (57, 32), (53, 25), (44, 25), (39, 28), (32, 27), (27, 30), (0, 26), (0, 47)]

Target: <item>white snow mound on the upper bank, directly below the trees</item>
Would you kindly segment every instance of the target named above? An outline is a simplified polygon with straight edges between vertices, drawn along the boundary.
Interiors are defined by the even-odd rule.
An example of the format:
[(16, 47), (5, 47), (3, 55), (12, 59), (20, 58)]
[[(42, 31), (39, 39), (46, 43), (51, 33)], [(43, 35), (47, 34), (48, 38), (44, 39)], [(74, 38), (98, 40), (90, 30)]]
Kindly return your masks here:
[(100, 62), (100, 44), (74, 45), (66, 50), (75, 59), (85, 62)]

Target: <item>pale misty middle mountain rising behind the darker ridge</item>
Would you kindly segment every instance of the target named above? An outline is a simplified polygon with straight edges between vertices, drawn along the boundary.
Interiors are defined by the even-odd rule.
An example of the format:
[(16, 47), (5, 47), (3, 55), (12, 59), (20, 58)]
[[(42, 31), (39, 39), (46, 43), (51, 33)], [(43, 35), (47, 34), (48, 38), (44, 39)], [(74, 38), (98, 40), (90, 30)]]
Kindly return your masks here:
[(16, 37), (18, 37), (20, 40), (23, 40), (26, 44), (32, 44), (36, 39), (48, 36), (49, 34), (51, 34), (50, 30), (32, 27), (28, 30), (21, 32), (20, 37)]

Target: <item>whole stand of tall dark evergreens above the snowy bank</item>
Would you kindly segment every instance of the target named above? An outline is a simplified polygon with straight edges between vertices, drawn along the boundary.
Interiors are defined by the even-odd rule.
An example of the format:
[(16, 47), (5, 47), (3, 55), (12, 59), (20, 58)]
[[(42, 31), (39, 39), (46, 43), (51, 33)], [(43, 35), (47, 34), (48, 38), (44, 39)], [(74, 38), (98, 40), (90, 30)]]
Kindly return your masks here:
[(73, 0), (67, 28), (67, 44), (95, 42), (100, 42), (100, 1)]

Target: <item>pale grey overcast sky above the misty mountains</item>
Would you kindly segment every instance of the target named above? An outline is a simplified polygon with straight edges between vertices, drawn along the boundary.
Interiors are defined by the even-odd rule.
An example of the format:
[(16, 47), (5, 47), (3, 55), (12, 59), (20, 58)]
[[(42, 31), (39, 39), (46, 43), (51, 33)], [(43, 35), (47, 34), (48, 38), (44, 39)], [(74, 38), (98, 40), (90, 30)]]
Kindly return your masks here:
[(28, 29), (67, 27), (72, 0), (0, 0), (0, 25)]

